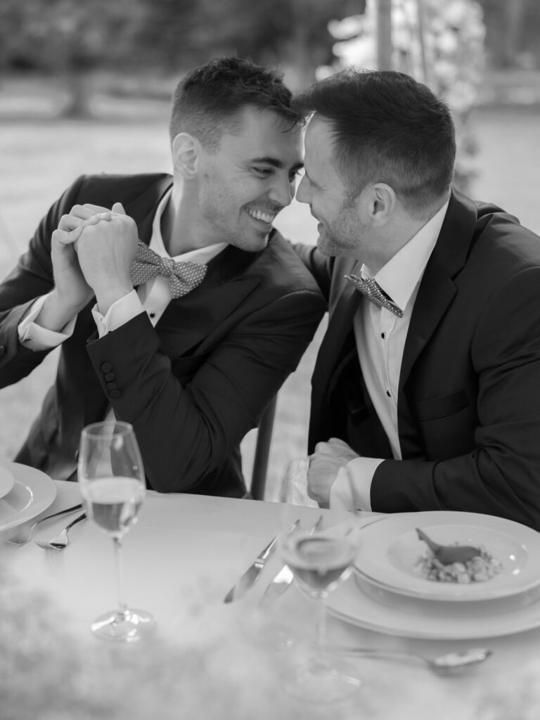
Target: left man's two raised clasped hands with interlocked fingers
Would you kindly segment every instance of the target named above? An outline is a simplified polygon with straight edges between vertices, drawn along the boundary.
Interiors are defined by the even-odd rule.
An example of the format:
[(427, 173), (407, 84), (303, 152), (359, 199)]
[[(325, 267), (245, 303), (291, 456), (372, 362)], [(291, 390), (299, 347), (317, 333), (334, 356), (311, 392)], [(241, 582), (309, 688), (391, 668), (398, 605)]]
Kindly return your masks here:
[(132, 261), (138, 245), (135, 221), (120, 202), (112, 210), (75, 205), (52, 235), (55, 289), (78, 311), (95, 294), (100, 312), (132, 290)]

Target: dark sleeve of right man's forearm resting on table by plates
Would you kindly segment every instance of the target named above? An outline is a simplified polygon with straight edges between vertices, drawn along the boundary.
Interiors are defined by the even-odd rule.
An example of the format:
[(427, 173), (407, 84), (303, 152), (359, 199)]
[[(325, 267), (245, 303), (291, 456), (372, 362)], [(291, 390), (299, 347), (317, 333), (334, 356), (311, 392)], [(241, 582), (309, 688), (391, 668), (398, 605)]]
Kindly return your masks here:
[(474, 333), (474, 449), (438, 462), (385, 460), (373, 510), (467, 510), (540, 529), (539, 328), (540, 269), (528, 268), (498, 289)]

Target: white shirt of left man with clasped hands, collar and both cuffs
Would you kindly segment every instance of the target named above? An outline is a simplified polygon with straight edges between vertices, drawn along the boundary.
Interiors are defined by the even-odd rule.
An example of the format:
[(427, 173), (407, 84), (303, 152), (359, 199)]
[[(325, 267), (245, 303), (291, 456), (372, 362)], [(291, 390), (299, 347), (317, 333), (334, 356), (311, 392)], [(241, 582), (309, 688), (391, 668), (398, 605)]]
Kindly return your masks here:
[[(165, 210), (169, 197), (171, 197), (171, 190), (163, 196), (161, 202), (158, 204), (156, 215), (154, 215), (153, 219), (152, 237), (150, 238), (149, 245), (151, 250), (164, 258), (169, 258), (170, 256), (165, 249), (163, 238), (161, 237), (161, 215), (163, 214), (163, 210)], [(227, 243), (215, 243), (205, 248), (197, 248), (188, 253), (176, 255), (172, 259), (175, 261), (191, 261), (206, 265), (226, 247)], [(76, 317), (69, 320), (58, 333), (37, 325), (35, 320), (41, 312), (45, 297), (47, 296), (38, 298), (34, 305), (32, 305), (30, 312), (28, 312), (22, 322), (19, 323), (19, 340), (32, 350), (46, 350), (60, 345), (60, 343), (63, 343), (63, 341), (72, 335), (73, 328), (75, 327)], [(109, 307), (106, 315), (102, 315), (97, 309), (97, 305), (94, 305), (92, 315), (96, 323), (98, 336), (102, 338), (112, 330), (117, 330), (121, 325), (127, 323), (128, 320), (135, 318), (136, 315), (140, 315), (141, 312), (148, 313), (150, 323), (155, 327), (159, 318), (161, 318), (161, 315), (165, 312), (168, 303), (171, 302), (171, 298), (168, 278), (163, 275), (158, 275), (148, 280), (148, 282), (145, 282), (145, 284), (140, 285), (137, 290), (132, 290), (132, 292), (121, 297), (117, 302), (114, 302), (111, 307)]]

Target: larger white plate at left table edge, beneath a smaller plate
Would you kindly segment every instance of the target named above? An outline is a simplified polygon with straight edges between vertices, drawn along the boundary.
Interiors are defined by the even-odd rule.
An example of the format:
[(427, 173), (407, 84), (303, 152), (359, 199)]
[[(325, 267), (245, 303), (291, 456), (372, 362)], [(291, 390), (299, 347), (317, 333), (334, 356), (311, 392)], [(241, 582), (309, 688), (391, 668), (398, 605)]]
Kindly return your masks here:
[(6, 467), (13, 474), (14, 485), (0, 499), (0, 531), (37, 517), (56, 497), (56, 485), (44, 472), (16, 462), (6, 463)]

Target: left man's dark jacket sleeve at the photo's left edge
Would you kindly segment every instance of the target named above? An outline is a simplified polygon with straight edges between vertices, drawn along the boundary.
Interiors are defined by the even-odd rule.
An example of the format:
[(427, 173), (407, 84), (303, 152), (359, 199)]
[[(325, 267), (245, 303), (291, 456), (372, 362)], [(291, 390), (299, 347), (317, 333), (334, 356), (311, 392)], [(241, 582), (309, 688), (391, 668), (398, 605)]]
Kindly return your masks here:
[(0, 284), (0, 387), (18, 382), (40, 364), (52, 348), (32, 351), (19, 342), (17, 328), (37, 297), (54, 287), (50, 260), (50, 238), (58, 228), (60, 217), (77, 202), (84, 177), (78, 178), (58, 199), (38, 225), (30, 245), (17, 266)]

